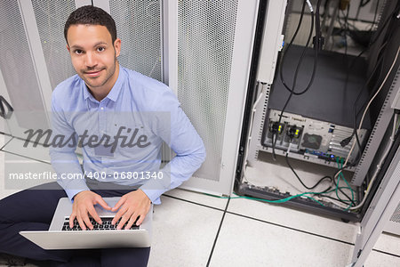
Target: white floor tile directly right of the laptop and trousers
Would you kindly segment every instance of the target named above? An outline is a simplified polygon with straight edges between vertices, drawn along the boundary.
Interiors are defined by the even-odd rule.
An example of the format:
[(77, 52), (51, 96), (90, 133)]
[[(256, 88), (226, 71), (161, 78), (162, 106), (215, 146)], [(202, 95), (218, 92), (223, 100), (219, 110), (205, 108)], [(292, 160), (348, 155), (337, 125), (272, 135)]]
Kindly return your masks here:
[(168, 197), (162, 202), (155, 206), (148, 266), (205, 266), (223, 212)]

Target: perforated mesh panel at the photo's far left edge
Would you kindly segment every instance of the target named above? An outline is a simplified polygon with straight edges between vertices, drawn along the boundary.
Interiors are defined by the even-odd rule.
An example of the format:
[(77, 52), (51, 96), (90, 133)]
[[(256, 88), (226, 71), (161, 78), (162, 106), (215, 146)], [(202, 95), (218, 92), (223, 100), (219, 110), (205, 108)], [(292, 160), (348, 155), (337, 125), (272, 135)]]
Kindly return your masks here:
[[(15, 112), (15, 125), (25, 129), (44, 128), (44, 117), (28, 116), (27, 111), (44, 112), (44, 101), (36, 77), (34, 61), (29, 49), (28, 37), (17, 1), (0, 1), (0, 69)], [(19, 135), (20, 129), (11, 129)], [(16, 133), (19, 132), (19, 133)]]

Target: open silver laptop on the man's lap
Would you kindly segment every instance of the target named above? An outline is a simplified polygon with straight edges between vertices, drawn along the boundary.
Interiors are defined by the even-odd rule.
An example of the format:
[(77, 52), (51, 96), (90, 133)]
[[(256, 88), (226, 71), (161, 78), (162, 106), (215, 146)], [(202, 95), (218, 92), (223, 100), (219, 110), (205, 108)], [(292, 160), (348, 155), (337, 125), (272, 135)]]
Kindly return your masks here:
[[(119, 197), (103, 198), (108, 206), (115, 206)], [(111, 220), (116, 213), (105, 210), (100, 205), (94, 206), (102, 224), (92, 218), (93, 230), (82, 231), (76, 222), (74, 228), (69, 228), (69, 215), (72, 213), (72, 203), (69, 198), (60, 198), (52, 217), (48, 231), (20, 231), (20, 235), (44, 249), (90, 249), (117, 247), (150, 247), (153, 220), (153, 205), (140, 226), (133, 224), (130, 230), (116, 230)]]

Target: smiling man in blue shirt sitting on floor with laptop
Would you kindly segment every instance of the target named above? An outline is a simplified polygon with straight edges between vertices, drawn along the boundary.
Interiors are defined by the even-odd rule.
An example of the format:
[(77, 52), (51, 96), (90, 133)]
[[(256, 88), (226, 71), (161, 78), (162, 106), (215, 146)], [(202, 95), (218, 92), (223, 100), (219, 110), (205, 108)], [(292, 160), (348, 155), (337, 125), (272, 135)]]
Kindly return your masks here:
[[(90, 216), (101, 223), (93, 207), (98, 204), (116, 212), (118, 229), (125, 223), (129, 229), (205, 158), (204, 144), (171, 90), (119, 65), (121, 40), (107, 12), (78, 8), (64, 35), (77, 75), (52, 93), (52, 138), (60, 145), (50, 155), (61, 187), (52, 182), (0, 201), (0, 252), (57, 266), (146, 266), (149, 248), (44, 250), (18, 234), (47, 230), (58, 199), (67, 196), (73, 201), (71, 226), (76, 219), (83, 230), (92, 229)], [(177, 156), (159, 170), (163, 141)], [(82, 146), (84, 172), (76, 146)], [(116, 206), (103, 199), (116, 196)]]

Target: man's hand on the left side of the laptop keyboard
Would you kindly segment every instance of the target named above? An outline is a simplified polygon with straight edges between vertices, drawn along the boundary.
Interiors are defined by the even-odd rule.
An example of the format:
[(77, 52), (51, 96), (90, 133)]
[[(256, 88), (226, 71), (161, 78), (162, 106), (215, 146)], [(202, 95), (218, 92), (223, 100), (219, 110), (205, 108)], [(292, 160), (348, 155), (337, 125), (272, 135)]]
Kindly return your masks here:
[(92, 215), (92, 218), (101, 224), (101, 219), (99, 214), (97, 214), (94, 209), (94, 205), (99, 204), (103, 208), (107, 210), (111, 210), (111, 207), (108, 206), (106, 201), (99, 194), (92, 192), (91, 190), (84, 190), (77, 193), (74, 197), (74, 203), (72, 205), (72, 214), (69, 216), (69, 227), (74, 227), (74, 220), (79, 223), (79, 226), (86, 230), (86, 226), (89, 229), (93, 229), (93, 225), (91, 220), (89, 219), (89, 214)]

